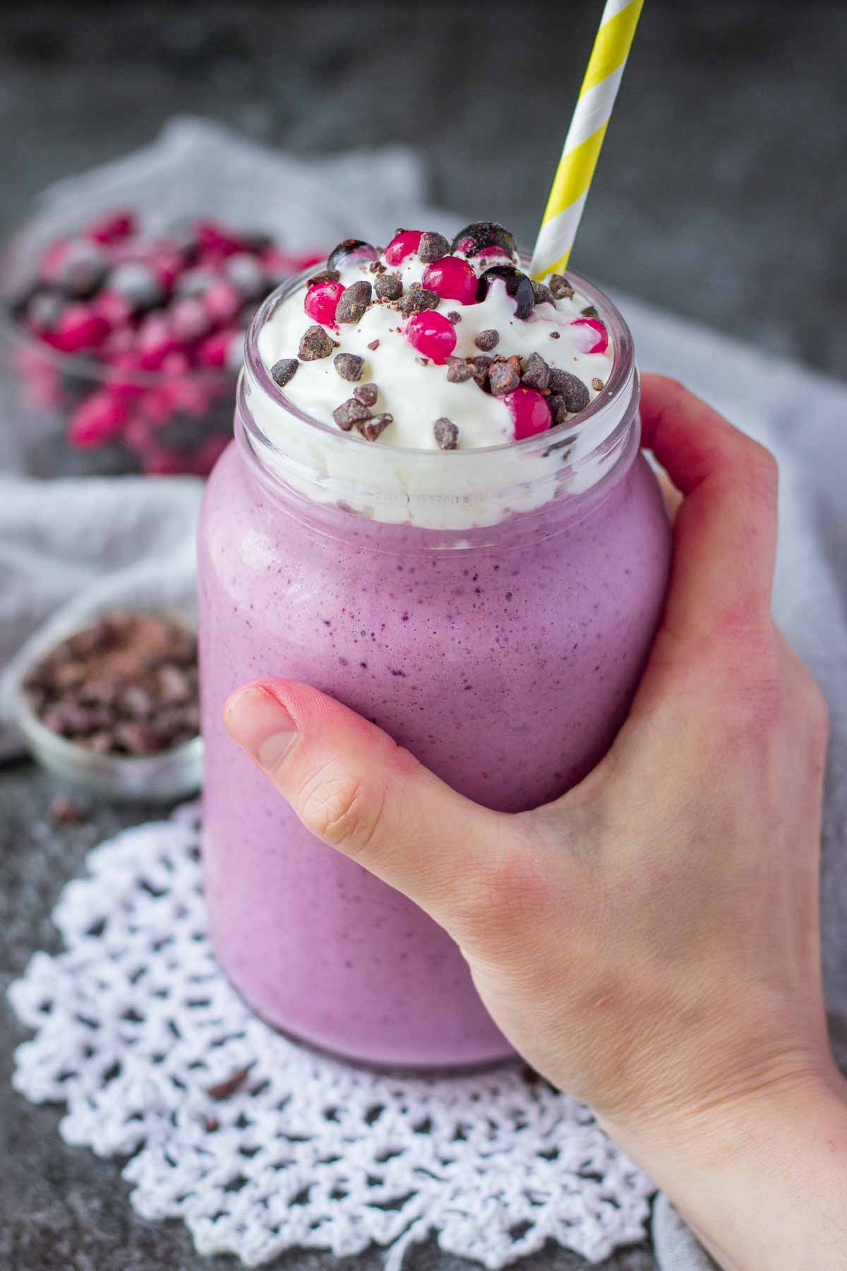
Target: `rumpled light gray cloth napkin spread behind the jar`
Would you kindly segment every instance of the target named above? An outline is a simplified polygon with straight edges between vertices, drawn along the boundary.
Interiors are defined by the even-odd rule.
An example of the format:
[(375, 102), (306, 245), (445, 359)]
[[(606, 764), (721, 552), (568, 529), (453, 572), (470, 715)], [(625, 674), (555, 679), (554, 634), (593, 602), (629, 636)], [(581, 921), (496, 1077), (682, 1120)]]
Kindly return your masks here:
[[(331, 244), (352, 233), (380, 240), (404, 222), (457, 224), (425, 207), (423, 169), (408, 151), (372, 153), (366, 167), (362, 155), (303, 163), (199, 121), (174, 122), (152, 146), (62, 183), (50, 197), (72, 200), (88, 184), (108, 191), (112, 183), (117, 191), (140, 170), (151, 183), (163, 174), (174, 182), (180, 173), (203, 179), (216, 164), (241, 174), (250, 198), (262, 189), (291, 202), (296, 192), (286, 220), (295, 247)], [(676, 375), (780, 460), (775, 613), (825, 693), (832, 716), (823, 831), (824, 974), (833, 1046), (847, 1068), (847, 385), (641, 301), (624, 296), (618, 302), (643, 369)], [(0, 421), (0, 433), (4, 428), (11, 431), (10, 421)], [(6, 447), (6, 469), (13, 450)], [(193, 590), (199, 494), (199, 483), (182, 478), (0, 478), (0, 669), (22, 660), (28, 637), (43, 642), (69, 614), (110, 600), (184, 602)], [(11, 677), (6, 674), (0, 695), (0, 755), (14, 754), (17, 745), (8, 716)], [(654, 1211), (654, 1239), (660, 1271), (714, 1267), (664, 1197)]]

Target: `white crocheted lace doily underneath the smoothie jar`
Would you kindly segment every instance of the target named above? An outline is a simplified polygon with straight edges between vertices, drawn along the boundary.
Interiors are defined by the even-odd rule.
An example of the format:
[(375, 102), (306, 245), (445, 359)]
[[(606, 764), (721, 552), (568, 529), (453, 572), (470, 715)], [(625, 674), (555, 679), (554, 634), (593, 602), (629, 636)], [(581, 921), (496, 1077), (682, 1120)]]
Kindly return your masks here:
[(201, 1253), (387, 1247), (437, 1233), (504, 1267), (547, 1239), (598, 1262), (644, 1238), (650, 1183), (582, 1104), (519, 1065), (390, 1077), (300, 1047), (250, 1014), (206, 935), (198, 808), (126, 830), (55, 911), (66, 952), (10, 988), (36, 1031), (14, 1084), (63, 1102), (62, 1138), (130, 1155), (147, 1219)]

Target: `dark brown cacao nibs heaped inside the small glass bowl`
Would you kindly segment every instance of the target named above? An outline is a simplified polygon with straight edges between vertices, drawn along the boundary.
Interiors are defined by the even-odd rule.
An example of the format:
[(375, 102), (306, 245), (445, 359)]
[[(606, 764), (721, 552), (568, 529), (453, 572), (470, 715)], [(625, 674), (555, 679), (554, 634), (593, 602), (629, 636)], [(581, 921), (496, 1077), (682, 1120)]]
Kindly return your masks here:
[(147, 611), (100, 614), (24, 675), (33, 714), (94, 754), (141, 758), (198, 733), (197, 638)]

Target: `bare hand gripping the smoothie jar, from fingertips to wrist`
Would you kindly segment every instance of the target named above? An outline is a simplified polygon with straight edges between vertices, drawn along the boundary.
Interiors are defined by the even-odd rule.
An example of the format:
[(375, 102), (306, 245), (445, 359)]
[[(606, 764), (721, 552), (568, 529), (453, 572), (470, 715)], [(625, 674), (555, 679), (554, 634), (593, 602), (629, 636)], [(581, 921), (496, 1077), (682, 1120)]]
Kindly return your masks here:
[(578, 787), (491, 812), (301, 684), (249, 685), (225, 718), (314, 834), (451, 933), (514, 1046), (659, 1178), (682, 1159), (668, 1141), (702, 1143), (701, 1162), (764, 1096), (841, 1087), (819, 965), (827, 712), (771, 619), (776, 464), (673, 381), (645, 376), (641, 417), (682, 494), (669, 592), (630, 716)]

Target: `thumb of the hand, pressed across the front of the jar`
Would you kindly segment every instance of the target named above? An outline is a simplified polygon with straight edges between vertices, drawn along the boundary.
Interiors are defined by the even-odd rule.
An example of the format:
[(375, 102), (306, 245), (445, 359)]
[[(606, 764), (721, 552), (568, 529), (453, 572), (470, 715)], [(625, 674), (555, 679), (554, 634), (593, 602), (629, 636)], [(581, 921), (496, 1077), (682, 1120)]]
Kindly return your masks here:
[(248, 684), (226, 702), (223, 723), (307, 830), (455, 925), (510, 819), (457, 794), (376, 724), (306, 684)]

